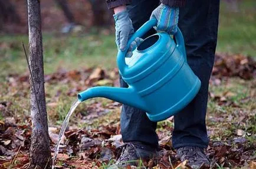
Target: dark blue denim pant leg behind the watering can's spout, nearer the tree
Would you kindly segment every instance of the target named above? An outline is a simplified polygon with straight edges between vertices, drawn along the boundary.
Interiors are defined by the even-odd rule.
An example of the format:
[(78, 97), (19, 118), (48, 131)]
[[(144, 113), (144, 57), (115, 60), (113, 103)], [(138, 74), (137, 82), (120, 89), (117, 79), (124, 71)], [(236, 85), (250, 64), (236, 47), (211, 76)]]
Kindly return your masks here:
[[(127, 6), (134, 31), (149, 20), (153, 9), (158, 5), (159, 1), (157, 2), (156, 0), (134, 0), (131, 5)], [(152, 29), (146, 36), (152, 35), (153, 33), (155, 33), (155, 31)], [(120, 77), (120, 86), (128, 87), (122, 77)], [(121, 113), (121, 133), (124, 142), (140, 141), (152, 147), (157, 147), (158, 137), (155, 130), (156, 123), (147, 118), (145, 111), (123, 105)]]

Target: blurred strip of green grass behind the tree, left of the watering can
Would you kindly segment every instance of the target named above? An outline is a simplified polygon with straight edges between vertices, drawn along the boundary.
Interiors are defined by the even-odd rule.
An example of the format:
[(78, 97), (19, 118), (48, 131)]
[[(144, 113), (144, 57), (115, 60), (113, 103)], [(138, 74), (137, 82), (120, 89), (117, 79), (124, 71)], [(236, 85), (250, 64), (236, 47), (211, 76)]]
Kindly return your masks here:
[[(26, 35), (0, 37), (0, 43), (8, 46), (0, 50), (2, 76), (27, 70), (22, 42), (28, 44)], [(55, 72), (58, 68), (71, 70), (96, 65), (109, 68), (116, 64), (113, 35), (44, 35), (43, 44), (45, 74)]]

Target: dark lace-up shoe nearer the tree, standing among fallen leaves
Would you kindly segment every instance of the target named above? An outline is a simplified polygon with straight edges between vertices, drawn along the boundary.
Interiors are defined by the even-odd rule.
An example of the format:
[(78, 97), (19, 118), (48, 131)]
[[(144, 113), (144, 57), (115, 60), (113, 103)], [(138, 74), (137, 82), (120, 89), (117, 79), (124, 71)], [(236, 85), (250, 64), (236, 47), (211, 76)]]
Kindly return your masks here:
[(141, 160), (149, 160), (150, 158), (157, 156), (155, 148), (138, 144), (137, 142), (125, 143), (124, 146), (120, 148), (122, 153), (116, 161), (116, 164), (111, 165), (109, 168), (124, 168), (128, 165), (138, 166), (141, 164)]

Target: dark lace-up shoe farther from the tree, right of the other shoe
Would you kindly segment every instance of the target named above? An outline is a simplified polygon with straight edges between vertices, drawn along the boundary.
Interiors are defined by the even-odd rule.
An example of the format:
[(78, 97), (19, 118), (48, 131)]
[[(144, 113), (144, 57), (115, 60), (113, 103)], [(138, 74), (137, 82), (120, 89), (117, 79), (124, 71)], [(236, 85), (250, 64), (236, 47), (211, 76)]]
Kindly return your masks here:
[(206, 157), (203, 148), (199, 147), (180, 147), (177, 154), (181, 161), (188, 160), (188, 165), (191, 168), (209, 168), (210, 161)]

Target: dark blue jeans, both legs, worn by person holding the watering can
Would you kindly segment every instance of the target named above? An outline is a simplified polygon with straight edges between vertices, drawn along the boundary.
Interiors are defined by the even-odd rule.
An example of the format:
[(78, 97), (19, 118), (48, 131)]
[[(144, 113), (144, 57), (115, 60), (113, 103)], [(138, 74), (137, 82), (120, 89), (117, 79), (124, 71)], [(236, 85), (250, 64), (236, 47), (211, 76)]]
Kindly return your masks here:
[[(134, 0), (127, 8), (134, 29), (143, 25), (157, 6), (156, 0)], [(219, 0), (189, 0), (179, 10), (179, 28), (185, 38), (188, 64), (202, 82), (195, 99), (174, 117), (172, 144), (174, 148), (196, 146), (206, 148), (208, 136), (205, 116), (208, 86), (214, 65), (218, 33)], [(146, 36), (152, 35), (152, 29)], [(146, 37), (145, 36), (145, 37)], [(128, 85), (120, 78), (121, 87)], [(171, 96), (170, 96), (171, 97)], [(123, 105), (121, 131), (123, 141), (139, 141), (152, 147), (158, 146), (156, 123), (150, 121), (142, 110)]]

